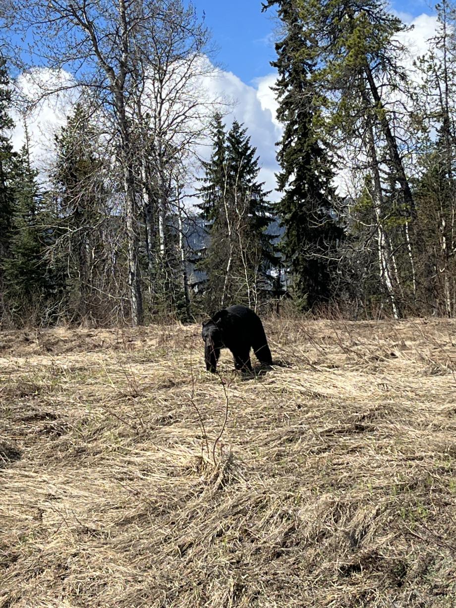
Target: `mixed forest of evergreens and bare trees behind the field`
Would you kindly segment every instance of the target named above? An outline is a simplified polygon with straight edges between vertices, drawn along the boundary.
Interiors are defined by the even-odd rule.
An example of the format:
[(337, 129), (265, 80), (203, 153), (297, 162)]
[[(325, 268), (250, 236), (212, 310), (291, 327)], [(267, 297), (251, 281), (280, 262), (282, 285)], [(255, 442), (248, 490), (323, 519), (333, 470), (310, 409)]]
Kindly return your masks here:
[[(381, 0), (258, 2), (275, 23), (272, 196), (249, 125), (202, 89), (216, 41), (197, 6), (2, 1), (2, 328), (185, 322), (232, 303), (454, 317), (456, 10), (435, 10), (410, 57)], [(36, 167), (29, 117), (64, 94)]]

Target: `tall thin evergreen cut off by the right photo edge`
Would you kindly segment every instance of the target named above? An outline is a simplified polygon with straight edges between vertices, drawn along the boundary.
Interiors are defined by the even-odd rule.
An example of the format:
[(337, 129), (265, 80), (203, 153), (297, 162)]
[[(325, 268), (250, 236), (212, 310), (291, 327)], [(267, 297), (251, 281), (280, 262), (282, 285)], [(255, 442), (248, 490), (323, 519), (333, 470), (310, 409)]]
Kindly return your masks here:
[(413, 117), (423, 174), (415, 198), (424, 245), (418, 252), (422, 297), (434, 311), (451, 317), (456, 313), (456, 7), (442, 0), (436, 9), (429, 52), (416, 61), (422, 80)]

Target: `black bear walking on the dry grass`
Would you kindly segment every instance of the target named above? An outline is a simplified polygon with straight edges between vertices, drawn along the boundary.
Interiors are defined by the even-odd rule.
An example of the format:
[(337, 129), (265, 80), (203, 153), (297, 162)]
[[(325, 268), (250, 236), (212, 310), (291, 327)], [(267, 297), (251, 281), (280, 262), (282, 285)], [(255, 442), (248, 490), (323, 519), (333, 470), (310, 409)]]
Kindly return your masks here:
[(219, 310), (202, 324), (204, 359), (207, 371), (215, 373), (221, 348), (233, 353), (237, 370), (252, 371), (250, 348), (261, 363), (272, 364), (271, 351), (260, 317), (246, 306), (237, 304)]

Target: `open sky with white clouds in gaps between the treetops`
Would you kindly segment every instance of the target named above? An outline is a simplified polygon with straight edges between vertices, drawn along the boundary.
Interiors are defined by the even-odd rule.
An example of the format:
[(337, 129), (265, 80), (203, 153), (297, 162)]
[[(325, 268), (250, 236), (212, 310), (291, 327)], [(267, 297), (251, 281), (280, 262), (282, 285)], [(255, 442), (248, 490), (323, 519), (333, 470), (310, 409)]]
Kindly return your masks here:
[[(431, 0), (433, 2), (435, 0)], [(276, 24), (272, 15), (261, 13), (261, 0), (193, 0), (201, 18), (206, 13), (206, 24), (212, 30), (213, 42), (218, 47), (216, 61), (225, 72), (216, 78), (206, 78), (202, 86), (213, 98), (223, 96), (232, 100), (232, 112), (226, 116), (227, 125), (236, 118), (248, 128), (252, 144), (260, 156), (261, 181), (272, 190), (271, 199), (277, 199), (274, 174), (278, 170), (275, 142), (282, 136), (282, 126), (276, 119), (277, 102), (271, 86), (275, 83), (275, 50), (272, 32)], [(426, 52), (426, 40), (435, 32), (432, 4), (427, 0), (393, 0), (392, 9), (406, 22), (415, 19), (415, 29), (407, 34), (413, 57)], [(423, 15), (425, 13), (425, 15)], [(413, 49), (413, 50), (412, 50)], [(40, 111), (30, 117), (29, 133), (34, 145), (37, 166), (46, 165), (55, 129), (64, 124), (69, 112), (65, 100), (57, 103), (47, 99)], [(16, 117), (13, 145), (19, 150), (24, 142), (22, 119)], [(209, 147), (204, 148), (209, 151)], [(199, 153), (204, 155), (204, 151)]]

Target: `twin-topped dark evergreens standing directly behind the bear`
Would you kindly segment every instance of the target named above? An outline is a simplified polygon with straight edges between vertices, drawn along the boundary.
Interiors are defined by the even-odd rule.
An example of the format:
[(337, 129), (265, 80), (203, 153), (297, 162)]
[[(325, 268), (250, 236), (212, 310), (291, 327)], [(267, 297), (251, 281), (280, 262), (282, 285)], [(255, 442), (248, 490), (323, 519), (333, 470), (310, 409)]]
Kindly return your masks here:
[(226, 133), (221, 116), (213, 123), (213, 153), (204, 163), (201, 216), (210, 243), (200, 268), (207, 273), (207, 305), (241, 302), (257, 306), (271, 287), (269, 269), (278, 263), (266, 230), (272, 220), (269, 192), (257, 181), (256, 148), (237, 121)]

